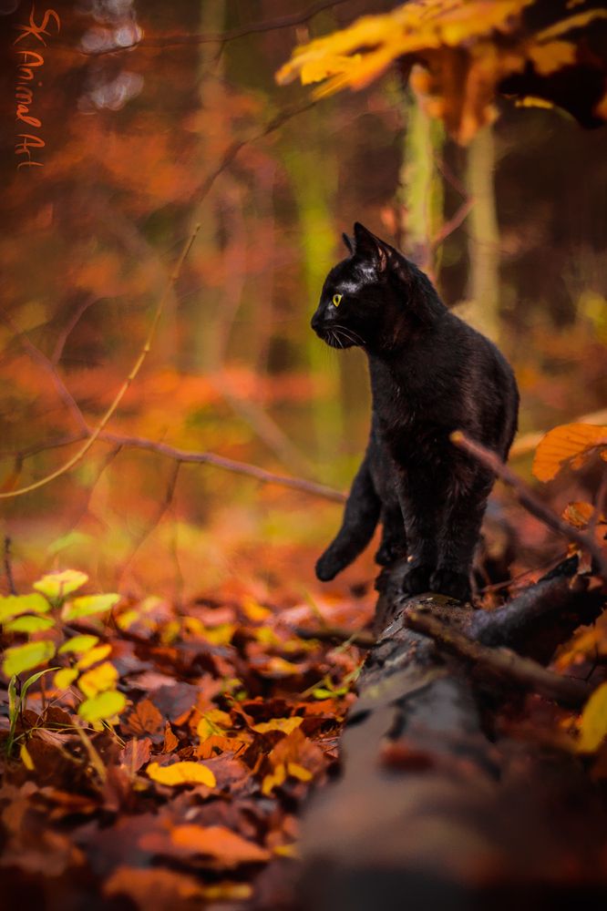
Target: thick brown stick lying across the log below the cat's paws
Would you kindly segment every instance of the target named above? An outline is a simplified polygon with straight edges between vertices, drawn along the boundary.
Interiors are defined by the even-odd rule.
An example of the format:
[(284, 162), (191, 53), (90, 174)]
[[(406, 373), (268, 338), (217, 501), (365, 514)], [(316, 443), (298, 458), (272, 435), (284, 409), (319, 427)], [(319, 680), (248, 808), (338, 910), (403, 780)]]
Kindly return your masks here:
[(440, 650), (478, 668), (479, 675), (483, 678), (540, 693), (545, 699), (571, 709), (580, 709), (592, 693), (592, 688), (583, 681), (561, 677), (545, 670), (537, 661), (521, 658), (509, 649), (489, 649), (479, 645), (448, 624), (441, 623), (420, 610), (405, 611), (403, 621), (409, 630), (429, 636)]

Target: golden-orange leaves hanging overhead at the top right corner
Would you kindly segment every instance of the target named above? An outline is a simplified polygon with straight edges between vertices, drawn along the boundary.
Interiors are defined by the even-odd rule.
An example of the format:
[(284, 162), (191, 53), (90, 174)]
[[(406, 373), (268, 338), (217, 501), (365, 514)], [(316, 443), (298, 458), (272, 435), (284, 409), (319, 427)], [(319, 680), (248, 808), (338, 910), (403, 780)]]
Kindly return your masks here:
[[(594, 70), (599, 82), (604, 77), (604, 61), (598, 56), (578, 60), (578, 36), (607, 17), (607, 11), (595, 7), (568, 15), (560, 5), (539, 7), (538, 0), (411, 0), (296, 47), (276, 80), (281, 85), (296, 77), (303, 85), (322, 82), (314, 96), (324, 97), (345, 87), (367, 86), (395, 61), (406, 75), (421, 66), (424, 77), (417, 73), (412, 84), (428, 112), (466, 144), (495, 117), (493, 101), (508, 77), (533, 80), (532, 91), (508, 88), (519, 97), (528, 92), (544, 97), (541, 80), (565, 67), (579, 64)], [(540, 26), (530, 26), (528, 13)], [(549, 82), (545, 100), (552, 100)], [(563, 98), (554, 100), (567, 107)], [(586, 119), (602, 118), (597, 101), (586, 102)]]

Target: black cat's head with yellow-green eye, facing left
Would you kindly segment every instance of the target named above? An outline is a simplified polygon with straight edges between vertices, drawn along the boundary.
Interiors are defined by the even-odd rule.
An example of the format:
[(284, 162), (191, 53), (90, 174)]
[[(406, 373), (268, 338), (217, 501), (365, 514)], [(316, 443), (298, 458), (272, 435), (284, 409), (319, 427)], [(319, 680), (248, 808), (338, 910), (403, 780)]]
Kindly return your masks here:
[(354, 237), (343, 237), (350, 256), (327, 275), (312, 328), (333, 348), (386, 351), (401, 343), (407, 323), (415, 322), (407, 312), (407, 289), (414, 272), (421, 273), (358, 221)]

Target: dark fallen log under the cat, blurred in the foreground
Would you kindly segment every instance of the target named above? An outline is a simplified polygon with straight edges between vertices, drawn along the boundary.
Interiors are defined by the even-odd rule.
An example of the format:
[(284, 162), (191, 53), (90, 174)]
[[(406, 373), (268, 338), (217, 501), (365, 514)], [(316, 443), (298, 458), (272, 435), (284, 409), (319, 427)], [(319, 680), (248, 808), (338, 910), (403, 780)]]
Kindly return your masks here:
[[(543, 614), (571, 609), (570, 580), (549, 579), (548, 589), (541, 580), (543, 608), (528, 594), (527, 612), (514, 604), (499, 618), (436, 595), (404, 599), (398, 575), (380, 585), (342, 774), (304, 817), (304, 907), (598, 907), (607, 896), (604, 791), (571, 749), (518, 742), (493, 724), (496, 687), (502, 698), (535, 690), (577, 707), (589, 694), (534, 660), (505, 660), (502, 649), (527, 621), (535, 629)], [(550, 587), (558, 604), (549, 610)]]

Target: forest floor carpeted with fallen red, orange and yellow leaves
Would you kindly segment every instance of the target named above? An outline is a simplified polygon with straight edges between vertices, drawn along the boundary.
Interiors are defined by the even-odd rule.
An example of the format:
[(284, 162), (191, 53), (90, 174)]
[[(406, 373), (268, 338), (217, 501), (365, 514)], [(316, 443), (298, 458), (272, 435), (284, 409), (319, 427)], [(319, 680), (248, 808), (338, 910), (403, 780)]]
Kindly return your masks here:
[[(507, 537), (494, 528), (486, 560), (505, 558)], [(542, 555), (545, 565), (563, 553), (555, 557), (554, 539), (517, 510), (511, 567), (520, 578), (509, 596), (540, 576), (530, 566)], [(302, 559), (313, 554), (293, 555), (292, 578)], [(48, 593), (49, 578), (58, 577), (39, 590)], [(18, 687), (12, 701), (2, 691), (2, 906), (296, 907), (298, 813), (339, 771), (365, 660), (348, 636), (371, 624), (372, 583), (299, 598), (285, 587), (267, 599), (232, 582), (179, 607), (122, 598), (102, 617), (95, 598), (48, 597), (57, 642), (87, 637), (87, 648), (57, 650), (20, 701)], [(493, 609), (504, 598), (489, 585), (480, 603)], [(17, 601), (0, 599), (0, 609)], [(341, 641), (324, 641), (334, 629)], [(19, 648), (15, 632), (3, 635)], [(603, 616), (576, 632), (553, 667), (590, 674), (596, 686), (606, 653)], [(57, 667), (70, 676), (53, 678)], [(24, 687), (28, 672), (18, 677)], [(120, 711), (87, 722), (83, 704), (108, 691)], [(581, 716), (529, 695), (516, 710), (504, 706), (498, 727), (575, 752)], [(592, 774), (606, 770), (603, 750)]]

